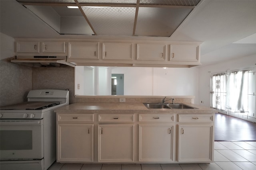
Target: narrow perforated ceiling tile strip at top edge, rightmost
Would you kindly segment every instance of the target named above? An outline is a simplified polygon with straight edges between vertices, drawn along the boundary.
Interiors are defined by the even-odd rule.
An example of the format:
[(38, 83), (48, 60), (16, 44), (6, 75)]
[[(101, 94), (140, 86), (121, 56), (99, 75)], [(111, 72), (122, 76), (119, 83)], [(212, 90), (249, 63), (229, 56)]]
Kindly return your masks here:
[(200, 0), (140, 0), (140, 4), (196, 6)]

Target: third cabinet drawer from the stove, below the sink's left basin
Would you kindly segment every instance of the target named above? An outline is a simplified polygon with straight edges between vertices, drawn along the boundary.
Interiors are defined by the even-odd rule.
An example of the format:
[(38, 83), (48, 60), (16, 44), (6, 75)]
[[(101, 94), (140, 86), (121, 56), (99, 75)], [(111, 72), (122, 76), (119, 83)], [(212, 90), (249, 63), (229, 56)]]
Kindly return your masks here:
[(139, 115), (139, 121), (173, 122), (174, 115), (164, 114), (143, 114)]

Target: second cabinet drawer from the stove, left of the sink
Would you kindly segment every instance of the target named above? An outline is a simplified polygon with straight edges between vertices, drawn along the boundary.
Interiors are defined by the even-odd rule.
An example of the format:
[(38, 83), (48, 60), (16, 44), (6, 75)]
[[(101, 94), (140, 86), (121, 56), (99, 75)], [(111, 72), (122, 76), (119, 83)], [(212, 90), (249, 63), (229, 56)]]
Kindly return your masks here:
[(102, 114), (99, 115), (99, 122), (134, 122), (133, 114)]

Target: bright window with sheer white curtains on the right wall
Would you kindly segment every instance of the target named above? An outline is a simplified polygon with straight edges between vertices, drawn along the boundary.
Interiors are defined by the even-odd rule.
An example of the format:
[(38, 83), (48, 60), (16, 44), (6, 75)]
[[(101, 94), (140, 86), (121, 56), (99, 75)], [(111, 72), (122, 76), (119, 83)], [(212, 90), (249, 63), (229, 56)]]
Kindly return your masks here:
[(255, 79), (254, 71), (250, 70), (212, 74), (211, 107), (240, 113), (250, 111), (254, 115)]

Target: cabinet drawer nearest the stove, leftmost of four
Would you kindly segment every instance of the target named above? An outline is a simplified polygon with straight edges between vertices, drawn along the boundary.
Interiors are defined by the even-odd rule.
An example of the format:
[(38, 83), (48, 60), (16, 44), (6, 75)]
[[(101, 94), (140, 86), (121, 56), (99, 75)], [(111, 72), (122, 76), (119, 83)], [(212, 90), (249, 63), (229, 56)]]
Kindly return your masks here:
[(57, 119), (59, 122), (64, 121), (86, 121), (86, 122), (93, 122), (93, 114), (58, 114)]

